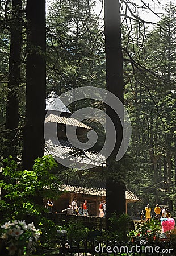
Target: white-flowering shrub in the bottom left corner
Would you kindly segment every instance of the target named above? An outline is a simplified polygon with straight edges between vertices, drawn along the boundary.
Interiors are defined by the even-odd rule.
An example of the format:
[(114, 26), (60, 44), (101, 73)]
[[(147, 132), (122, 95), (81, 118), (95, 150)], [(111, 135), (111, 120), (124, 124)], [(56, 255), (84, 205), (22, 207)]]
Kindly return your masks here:
[(9, 221), (1, 228), (3, 229), (1, 238), (8, 255), (30, 255), (35, 251), (41, 232), (35, 229), (33, 222), (27, 225), (25, 221)]

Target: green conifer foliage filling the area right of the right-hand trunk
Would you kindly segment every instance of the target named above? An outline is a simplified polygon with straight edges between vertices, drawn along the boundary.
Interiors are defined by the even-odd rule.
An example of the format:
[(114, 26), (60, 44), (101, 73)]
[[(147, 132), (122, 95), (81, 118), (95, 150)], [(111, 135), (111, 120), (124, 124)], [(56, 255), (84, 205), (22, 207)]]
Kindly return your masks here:
[(128, 81), (124, 102), (132, 125), (128, 154), (133, 161), (127, 187), (143, 200), (138, 214), (147, 203), (153, 208), (165, 204), (170, 210), (171, 200), (173, 208), (176, 205), (171, 196), (175, 194), (175, 10), (168, 3), (160, 26), (143, 31), (136, 22), (133, 36), (124, 34), (124, 48), (139, 65), (124, 61)]

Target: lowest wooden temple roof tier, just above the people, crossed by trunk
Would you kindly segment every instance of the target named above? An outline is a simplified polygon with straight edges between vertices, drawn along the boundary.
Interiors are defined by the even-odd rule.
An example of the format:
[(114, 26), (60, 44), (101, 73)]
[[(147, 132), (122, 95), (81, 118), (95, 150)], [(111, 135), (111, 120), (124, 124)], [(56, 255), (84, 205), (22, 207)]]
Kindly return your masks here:
[[(62, 185), (61, 191), (69, 191), (72, 193), (79, 193), (85, 195), (94, 195), (94, 196), (106, 196), (106, 189), (105, 188), (86, 188), (86, 187), (78, 187), (72, 185)], [(137, 197), (134, 193), (126, 189), (125, 198), (127, 203), (141, 201), (139, 197)]]

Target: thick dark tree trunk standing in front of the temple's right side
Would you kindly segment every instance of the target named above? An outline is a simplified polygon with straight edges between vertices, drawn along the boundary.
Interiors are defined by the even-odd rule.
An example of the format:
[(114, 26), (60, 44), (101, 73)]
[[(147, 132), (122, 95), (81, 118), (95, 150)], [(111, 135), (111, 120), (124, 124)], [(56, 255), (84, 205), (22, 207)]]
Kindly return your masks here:
[[(105, 20), (105, 45), (106, 45), (106, 83), (107, 90), (115, 94), (123, 102), (123, 56), (121, 49), (120, 5), (116, 0), (104, 1)], [(114, 151), (107, 159), (107, 184), (106, 184), (106, 223), (111, 214), (116, 212), (119, 216), (125, 213), (125, 184), (113, 175), (115, 156), (119, 150), (122, 138), (122, 129), (116, 113), (111, 108), (106, 108), (106, 113), (114, 122), (117, 139)], [(118, 120), (118, 121), (117, 121)], [(108, 130), (108, 123), (107, 123)], [(118, 174), (119, 175), (119, 174)], [(114, 176), (114, 177), (113, 177)]]

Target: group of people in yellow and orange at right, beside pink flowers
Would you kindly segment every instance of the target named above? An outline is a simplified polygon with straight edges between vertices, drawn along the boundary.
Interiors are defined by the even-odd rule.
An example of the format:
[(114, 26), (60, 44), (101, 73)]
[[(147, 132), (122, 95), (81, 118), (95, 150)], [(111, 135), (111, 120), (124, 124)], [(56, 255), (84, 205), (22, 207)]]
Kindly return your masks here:
[(146, 205), (145, 210), (142, 210), (141, 212), (141, 221), (150, 221), (151, 218), (155, 218), (157, 220), (160, 220), (161, 218), (170, 218), (171, 214), (168, 209), (165, 209), (164, 206), (161, 206), (156, 204), (156, 207), (154, 208), (155, 216), (152, 216), (152, 209), (150, 205)]

